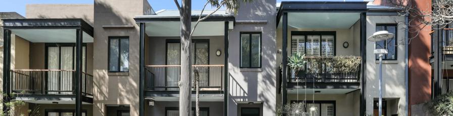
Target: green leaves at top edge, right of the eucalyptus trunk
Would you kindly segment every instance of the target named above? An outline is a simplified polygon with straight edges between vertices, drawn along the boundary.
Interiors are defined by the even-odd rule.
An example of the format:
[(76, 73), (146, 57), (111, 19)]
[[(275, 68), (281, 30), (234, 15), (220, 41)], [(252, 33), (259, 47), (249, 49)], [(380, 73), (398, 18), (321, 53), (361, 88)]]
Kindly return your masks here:
[(241, 3), (249, 3), (252, 2), (253, 0), (208, 0), (208, 3), (214, 7), (224, 7), (228, 10), (233, 10), (234, 13), (237, 13), (237, 9), (239, 9), (239, 2)]

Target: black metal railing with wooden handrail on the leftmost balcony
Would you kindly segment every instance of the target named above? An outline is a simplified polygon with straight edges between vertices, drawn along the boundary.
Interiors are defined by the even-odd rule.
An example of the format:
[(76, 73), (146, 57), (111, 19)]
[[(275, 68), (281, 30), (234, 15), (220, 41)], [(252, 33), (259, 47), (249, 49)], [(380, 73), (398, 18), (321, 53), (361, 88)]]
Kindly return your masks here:
[[(11, 70), (11, 90), (18, 94), (74, 94), (75, 70)], [(82, 95), (92, 96), (93, 76), (82, 72)]]

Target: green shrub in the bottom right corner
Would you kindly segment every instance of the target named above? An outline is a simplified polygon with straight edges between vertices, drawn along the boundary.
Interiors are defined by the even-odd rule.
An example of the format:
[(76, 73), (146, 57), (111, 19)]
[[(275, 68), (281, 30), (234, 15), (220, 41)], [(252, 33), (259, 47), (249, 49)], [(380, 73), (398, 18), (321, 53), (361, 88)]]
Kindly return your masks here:
[(434, 98), (430, 110), (434, 115), (453, 115), (453, 91)]

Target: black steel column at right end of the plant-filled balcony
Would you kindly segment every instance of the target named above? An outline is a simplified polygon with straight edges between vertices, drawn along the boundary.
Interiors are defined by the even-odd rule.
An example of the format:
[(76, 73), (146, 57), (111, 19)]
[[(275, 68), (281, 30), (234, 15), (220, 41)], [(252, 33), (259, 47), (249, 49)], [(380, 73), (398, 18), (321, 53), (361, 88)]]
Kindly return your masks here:
[(361, 90), (360, 90), (360, 115), (365, 115), (366, 111), (366, 105), (367, 105), (367, 96), (365, 95), (366, 93), (366, 60), (367, 60), (367, 13), (362, 13), (360, 14), (360, 56), (362, 57), (362, 64), (361, 66)]

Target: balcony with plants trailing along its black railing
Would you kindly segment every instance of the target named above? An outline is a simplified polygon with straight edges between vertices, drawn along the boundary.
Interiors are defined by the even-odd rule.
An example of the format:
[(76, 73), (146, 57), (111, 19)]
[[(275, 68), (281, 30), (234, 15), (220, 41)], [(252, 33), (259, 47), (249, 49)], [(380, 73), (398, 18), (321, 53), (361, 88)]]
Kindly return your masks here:
[[(360, 85), (361, 57), (304, 57), (306, 66), (295, 73), (288, 71), (288, 88), (350, 88)], [(300, 83), (314, 83), (299, 86)]]

